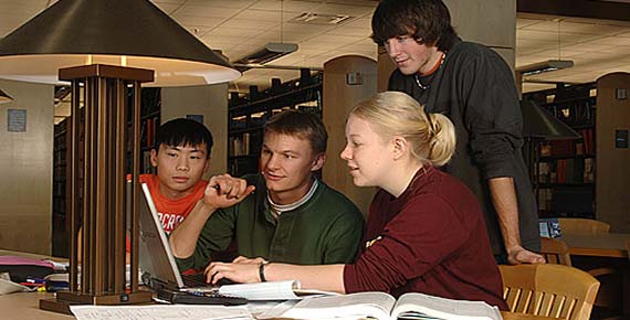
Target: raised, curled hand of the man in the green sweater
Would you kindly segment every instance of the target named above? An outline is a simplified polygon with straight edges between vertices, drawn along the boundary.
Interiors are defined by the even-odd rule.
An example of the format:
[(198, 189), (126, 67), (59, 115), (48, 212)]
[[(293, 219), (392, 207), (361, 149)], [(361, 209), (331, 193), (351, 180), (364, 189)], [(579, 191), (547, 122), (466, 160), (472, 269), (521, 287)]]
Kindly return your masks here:
[(203, 203), (213, 209), (229, 207), (245, 199), (255, 190), (248, 181), (230, 174), (214, 175), (203, 192)]

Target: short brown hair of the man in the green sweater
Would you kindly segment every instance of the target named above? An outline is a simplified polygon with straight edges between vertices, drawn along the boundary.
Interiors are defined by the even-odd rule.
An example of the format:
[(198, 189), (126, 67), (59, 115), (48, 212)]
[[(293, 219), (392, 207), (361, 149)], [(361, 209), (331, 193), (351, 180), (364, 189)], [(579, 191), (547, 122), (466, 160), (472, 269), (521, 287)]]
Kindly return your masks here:
[(326, 152), (328, 132), (322, 118), (309, 111), (284, 110), (275, 114), (264, 125), (264, 135), (267, 132), (297, 136), (308, 140), (315, 153)]

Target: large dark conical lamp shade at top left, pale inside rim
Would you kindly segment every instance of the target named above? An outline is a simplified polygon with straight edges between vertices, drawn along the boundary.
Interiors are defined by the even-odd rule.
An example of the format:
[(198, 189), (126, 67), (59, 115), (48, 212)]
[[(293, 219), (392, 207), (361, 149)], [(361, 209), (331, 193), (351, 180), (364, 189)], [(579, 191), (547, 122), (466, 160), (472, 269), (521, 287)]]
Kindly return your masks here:
[(0, 77), (59, 83), (60, 68), (155, 71), (146, 86), (223, 83), (238, 72), (147, 0), (60, 0), (0, 41)]

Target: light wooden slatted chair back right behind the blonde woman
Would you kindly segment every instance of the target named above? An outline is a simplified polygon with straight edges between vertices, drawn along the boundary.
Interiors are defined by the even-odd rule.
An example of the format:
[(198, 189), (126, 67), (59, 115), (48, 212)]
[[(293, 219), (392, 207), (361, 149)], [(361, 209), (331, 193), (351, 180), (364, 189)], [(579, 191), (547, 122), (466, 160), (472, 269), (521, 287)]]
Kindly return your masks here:
[(591, 275), (561, 265), (498, 266), (510, 311), (588, 320), (599, 289)]

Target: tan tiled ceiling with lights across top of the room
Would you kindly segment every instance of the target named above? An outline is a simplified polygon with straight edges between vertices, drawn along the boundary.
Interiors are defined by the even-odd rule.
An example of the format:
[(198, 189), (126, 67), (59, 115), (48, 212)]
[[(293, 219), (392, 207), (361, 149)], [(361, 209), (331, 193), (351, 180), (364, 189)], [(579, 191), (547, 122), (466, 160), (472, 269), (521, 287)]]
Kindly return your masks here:
[[(623, 0), (624, 1), (624, 0)], [(0, 36), (4, 36), (55, 0), (0, 0)], [(324, 62), (345, 54), (376, 60), (369, 39), (377, 0), (153, 0), (209, 47), (231, 61), (256, 51), (267, 42), (293, 42), (297, 52), (270, 66), (321, 68)], [(630, 4), (628, 4), (630, 6)], [(305, 13), (349, 15), (338, 24), (292, 21)], [(280, 21), (284, 22), (281, 23)], [(317, 22), (317, 20), (315, 20)], [(456, 25), (455, 25), (456, 26)], [(519, 13), (516, 22), (516, 67), (568, 58), (568, 70), (525, 78), (524, 92), (553, 87), (553, 82), (587, 83), (610, 72), (630, 72), (630, 22)], [(246, 92), (250, 85), (270, 86), (300, 76), (296, 70), (253, 68), (230, 84)]]

